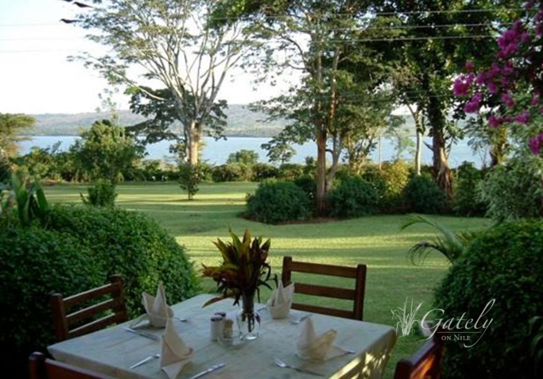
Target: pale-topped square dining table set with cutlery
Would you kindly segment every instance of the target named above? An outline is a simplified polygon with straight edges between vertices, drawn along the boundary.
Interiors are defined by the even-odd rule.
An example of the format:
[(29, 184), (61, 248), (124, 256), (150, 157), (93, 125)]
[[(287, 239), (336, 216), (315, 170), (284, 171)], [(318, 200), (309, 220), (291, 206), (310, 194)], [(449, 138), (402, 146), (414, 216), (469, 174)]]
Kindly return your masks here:
[[(256, 340), (231, 346), (211, 340), (211, 316), (216, 312), (233, 314), (239, 306), (232, 299), (217, 301), (203, 307), (214, 295), (203, 294), (172, 306), (171, 319), (175, 331), (194, 355), (176, 379), (189, 379), (213, 365), (225, 365), (203, 376), (205, 379), (362, 379), (381, 378), (392, 351), (396, 333), (392, 326), (324, 314), (311, 314), (291, 309), (288, 318), (272, 319), (262, 304), (260, 309), (260, 335)], [(296, 355), (296, 341), (304, 322), (302, 316), (311, 316), (315, 332), (337, 331), (334, 345), (345, 353), (325, 361), (301, 359)], [(127, 331), (131, 321), (61, 341), (48, 346), (54, 359), (80, 368), (89, 369), (119, 379), (168, 379), (161, 370), (160, 358), (149, 358), (147, 363), (130, 368), (146, 357), (161, 352), (162, 328), (153, 328), (145, 322), (135, 328), (142, 334)], [(159, 338), (148, 338), (149, 335)], [(276, 359), (292, 365), (282, 368)], [(307, 372), (310, 371), (310, 372)], [(319, 374), (319, 375), (316, 375)]]

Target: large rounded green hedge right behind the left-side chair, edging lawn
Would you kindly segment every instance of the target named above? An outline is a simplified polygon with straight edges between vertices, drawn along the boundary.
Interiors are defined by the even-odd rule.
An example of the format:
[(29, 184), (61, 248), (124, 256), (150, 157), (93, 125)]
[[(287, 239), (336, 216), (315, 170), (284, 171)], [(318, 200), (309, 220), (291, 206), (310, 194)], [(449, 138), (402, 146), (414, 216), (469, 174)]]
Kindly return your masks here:
[(49, 227), (89, 246), (106, 276), (123, 276), (132, 317), (143, 312), (142, 291), (153, 293), (160, 281), (170, 303), (197, 290), (185, 248), (146, 215), (117, 208), (55, 207)]

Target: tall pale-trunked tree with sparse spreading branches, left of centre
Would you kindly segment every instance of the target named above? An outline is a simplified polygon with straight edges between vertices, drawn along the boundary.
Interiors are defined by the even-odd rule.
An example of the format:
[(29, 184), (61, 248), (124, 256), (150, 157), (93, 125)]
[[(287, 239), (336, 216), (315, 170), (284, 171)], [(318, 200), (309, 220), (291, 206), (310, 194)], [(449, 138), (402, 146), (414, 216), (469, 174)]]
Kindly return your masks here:
[[(111, 48), (102, 57), (83, 57), (112, 83), (127, 84), (166, 101), (141, 85), (143, 78), (171, 92), (183, 121), (188, 163), (198, 164), (206, 121), (228, 71), (250, 47), (241, 22), (210, 27), (217, 17), (212, 0), (109, 0), (79, 16), (90, 39)], [(136, 71), (137, 72), (137, 71)]]

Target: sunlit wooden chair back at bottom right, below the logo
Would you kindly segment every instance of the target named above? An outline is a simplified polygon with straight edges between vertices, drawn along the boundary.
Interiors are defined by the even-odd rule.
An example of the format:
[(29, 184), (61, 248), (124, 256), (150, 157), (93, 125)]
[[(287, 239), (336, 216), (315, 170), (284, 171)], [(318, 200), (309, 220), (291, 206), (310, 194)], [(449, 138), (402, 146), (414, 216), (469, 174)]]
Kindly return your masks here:
[(443, 353), (443, 340), (435, 333), (411, 358), (398, 361), (394, 379), (439, 379)]

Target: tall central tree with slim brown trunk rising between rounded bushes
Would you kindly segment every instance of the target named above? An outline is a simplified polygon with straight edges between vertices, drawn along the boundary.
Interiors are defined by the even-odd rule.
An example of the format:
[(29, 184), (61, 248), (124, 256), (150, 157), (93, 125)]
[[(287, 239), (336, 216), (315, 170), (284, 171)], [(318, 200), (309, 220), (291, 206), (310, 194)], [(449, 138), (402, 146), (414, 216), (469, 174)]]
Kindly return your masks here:
[[(261, 102), (274, 117), (287, 117), (287, 126), (276, 140), (317, 144), (317, 212), (325, 208), (325, 193), (333, 181), (340, 152), (342, 131), (338, 110), (343, 99), (353, 97), (347, 89), (357, 74), (371, 76), (380, 65), (374, 49), (363, 41), (374, 22), (367, 16), (371, 1), (274, 0), (225, 2), (229, 17), (249, 22), (253, 35), (262, 41), (264, 59), (256, 65), (267, 74), (271, 84), (284, 72), (299, 72), (301, 83), (287, 95)], [(371, 57), (371, 58), (370, 58)], [(252, 57), (249, 57), (252, 58)], [(379, 62), (379, 63), (378, 63)], [(352, 71), (353, 69), (357, 70)], [(373, 80), (377, 86), (378, 81)], [(374, 87), (375, 89), (375, 87)], [(330, 144), (330, 148), (328, 148)], [(326, 153), (332, 155), (332, 167), (326, 177)]]

